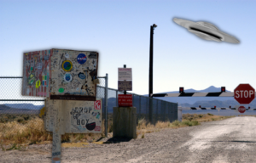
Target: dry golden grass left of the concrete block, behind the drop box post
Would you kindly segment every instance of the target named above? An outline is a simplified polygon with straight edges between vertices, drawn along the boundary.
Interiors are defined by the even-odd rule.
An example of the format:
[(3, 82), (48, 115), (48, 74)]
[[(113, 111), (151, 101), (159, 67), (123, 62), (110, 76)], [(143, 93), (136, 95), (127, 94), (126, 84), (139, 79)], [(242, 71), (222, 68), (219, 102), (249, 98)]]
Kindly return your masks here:
[[(25, 121), (19, 121), (22, 118), (21, 116), (18, 118), (17, 116), (9, 116), (9, 119), (6, 118), (8, 117), (8, 115), (2, 117), (2, 120), (4, 121), (0, 123), (0, 146), (3, 150), (5, 150), (6, 147), (9, 147), (10, 149), (19, 149), (20, 144), (22, 146), (27, 146), (28, 144), (32, 143), (47, 143), (49, 141), (52, 141), (52, 133), (46, 132), (44, 130), (44, 121), (38, 116), (29, 118)], [(111, 126), (109, 125), (109, 127)], [(61, 142), (93, 142), (99, 138), (102, 138), (103, 136), (104, 129), (101, 134), (66, 133), (64, 135), (61, 135)]]

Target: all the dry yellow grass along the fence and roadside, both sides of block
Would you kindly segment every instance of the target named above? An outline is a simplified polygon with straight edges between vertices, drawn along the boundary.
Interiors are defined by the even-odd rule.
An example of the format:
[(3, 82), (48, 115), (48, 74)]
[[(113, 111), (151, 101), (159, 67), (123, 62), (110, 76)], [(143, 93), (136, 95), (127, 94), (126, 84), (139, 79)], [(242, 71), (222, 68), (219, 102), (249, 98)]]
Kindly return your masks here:
[[(137, 138), (145, 138), (145, 133), (160, 132), (163, 128), (179, 128), (184, 126), (200, 125), (203, 121), (219, 121), (234, 116), (218, 115), (183, 115), (183, 121), (158, 121), (152, 125), (145, 119), (138, 120)], [(104, 121), (104, 120), (102, 120)], [(85, 145), (95, 142), (105, 136), (104, 127), (101, 134), (65, 134), (61, 135), (61, 142), (65, 146), (67, 143), (79, 143)], [(36, 115), (1, 115), (0, 116), (0, 146), (3, 150), (20, 149), (20, 146), (27, 146), (32, 143), (51, 143), (52, 133), (44, 130), (44, 121)], [(113, 119), (108, 119), (108, 132), (113, 132)]]

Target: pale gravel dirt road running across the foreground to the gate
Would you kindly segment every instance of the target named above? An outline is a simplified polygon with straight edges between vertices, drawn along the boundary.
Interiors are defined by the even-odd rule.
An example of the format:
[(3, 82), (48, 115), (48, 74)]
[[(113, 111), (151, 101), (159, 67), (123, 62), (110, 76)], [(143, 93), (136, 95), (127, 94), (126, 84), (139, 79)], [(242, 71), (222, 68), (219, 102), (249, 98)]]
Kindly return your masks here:
[[(107, 138), (84, 148), (62, 148), (62, 163), (80, 162), (256, 162), (256, 118), (235, 117), (201, 126), (164, 129), (145, 138)], [(0, 162), (50, 162), (51, 145), (32, 145), (24, 151), (0, 151)]]

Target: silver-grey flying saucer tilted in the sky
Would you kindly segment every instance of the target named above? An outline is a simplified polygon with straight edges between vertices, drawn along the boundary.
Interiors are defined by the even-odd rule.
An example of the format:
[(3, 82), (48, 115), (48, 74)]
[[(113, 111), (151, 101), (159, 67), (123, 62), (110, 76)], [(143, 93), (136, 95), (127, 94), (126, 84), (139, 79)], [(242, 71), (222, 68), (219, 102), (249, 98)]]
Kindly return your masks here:
[(215, 42), (230, 42), (230, 43), (239, 43), (236, 37), (232, 37), (223, 31), (219, 31), (215, 25), (204, 21), (189, 21), (179, 18), (174, 18), (173, 21), (177, 25), (181, 25), (188, 29), (191, 33), (194, 33), (197, 37), (201, 37), (205, 40), (212, 40)]

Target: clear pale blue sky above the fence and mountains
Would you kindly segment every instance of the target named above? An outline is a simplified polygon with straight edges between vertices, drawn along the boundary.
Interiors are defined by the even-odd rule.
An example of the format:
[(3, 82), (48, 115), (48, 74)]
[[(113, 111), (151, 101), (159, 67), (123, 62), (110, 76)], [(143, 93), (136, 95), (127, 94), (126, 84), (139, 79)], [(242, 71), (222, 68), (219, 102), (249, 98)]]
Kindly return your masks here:
[[(150, 25), (153, 93), (210, 86), (256, 88), (254, 0), (0, 0), (0, 76), (22, 76), (22, 53), (50, 48), (99, 53), (98, 76), (117, 89), (132, 68), (132, 91), (148, 94)], [(206, 21), (240, 43), (202, 40), (173, 18)]]

